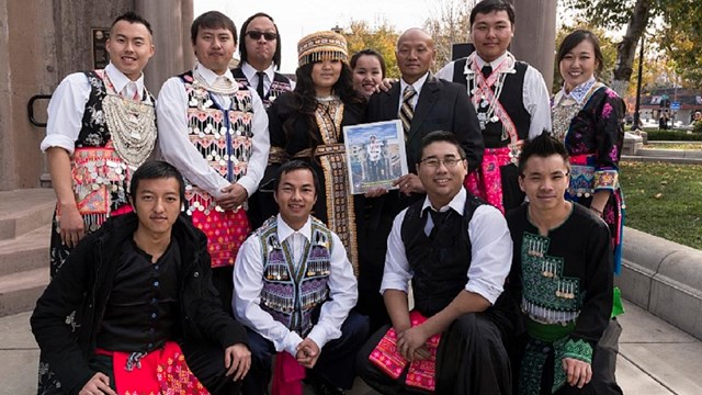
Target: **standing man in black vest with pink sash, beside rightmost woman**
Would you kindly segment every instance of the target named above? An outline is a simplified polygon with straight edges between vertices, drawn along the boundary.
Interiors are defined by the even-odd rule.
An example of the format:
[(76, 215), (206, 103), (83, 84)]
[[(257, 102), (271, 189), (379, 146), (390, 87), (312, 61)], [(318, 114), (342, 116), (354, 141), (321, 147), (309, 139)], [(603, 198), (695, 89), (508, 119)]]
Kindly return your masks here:
[(485, 156), (466, 187), (502, 213), (524, 201), (516, 166), (522, 142), (551, 131), (546, 83), (535, 68), (507, 50), (513, 36), (513, 5), (505, 0), (480, 1), (471, 11), (475, 52), (437, 72), (466, 87), (480, 123)]

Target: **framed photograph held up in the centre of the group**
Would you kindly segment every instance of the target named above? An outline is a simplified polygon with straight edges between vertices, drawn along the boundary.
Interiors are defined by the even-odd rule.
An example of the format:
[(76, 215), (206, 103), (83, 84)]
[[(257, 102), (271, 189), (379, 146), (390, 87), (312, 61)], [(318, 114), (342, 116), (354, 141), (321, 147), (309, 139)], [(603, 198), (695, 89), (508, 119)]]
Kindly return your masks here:
[(344, 126), (343, 140), (352, 194), (375, 188), (397, 189), (393, 181), (407, 174), (405, 135), (399, 120)]

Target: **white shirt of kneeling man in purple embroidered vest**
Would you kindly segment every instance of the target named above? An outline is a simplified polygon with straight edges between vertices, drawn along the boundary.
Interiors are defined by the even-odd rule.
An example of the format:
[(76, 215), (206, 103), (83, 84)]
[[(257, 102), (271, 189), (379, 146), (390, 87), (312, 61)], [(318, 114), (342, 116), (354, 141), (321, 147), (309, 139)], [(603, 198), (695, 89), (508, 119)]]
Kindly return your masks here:
[[(278, 215), (278, 239), (288, 240), (293, 249), (295, 262), (301, 262), (304, 239), (312, 240), (312, 218), (299, 230), (292, 229)], [(303, 341), (299, 334), (291, 331), (285, 325), (276, 321), (260, 306), (263, 289), (263, 255), (258, 237), (249, 237), (237, 255), (234, 264), (234, 297), (231, 307), (237, 320), (256, 330), (263, 338), (273, 342), (275, 351), (287, 351), (295, 357), (295, 348)], [(308, 338), (321, 349), (328, 341), (341, 337), (341, 325), (355, 306), (359, 297), (358, 285), (347, 251), (335, 233), (331, 233), (329, 266), (329, 300), (321, 305), (319, 320), (312, 328)]]

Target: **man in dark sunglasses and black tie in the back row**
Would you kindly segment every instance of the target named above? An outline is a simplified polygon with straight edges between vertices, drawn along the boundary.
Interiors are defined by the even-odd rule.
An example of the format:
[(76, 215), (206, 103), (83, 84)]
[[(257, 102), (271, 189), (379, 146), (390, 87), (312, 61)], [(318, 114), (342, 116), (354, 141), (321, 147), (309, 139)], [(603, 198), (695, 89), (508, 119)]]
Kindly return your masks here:
[(281, 67), (281, 36), (269, 14), (258, 12), (244, 22), (239, 55), (234, 78), (254, 88), (267, 109), (281, 93), (295, 88), (295, 82), (275, 71)]

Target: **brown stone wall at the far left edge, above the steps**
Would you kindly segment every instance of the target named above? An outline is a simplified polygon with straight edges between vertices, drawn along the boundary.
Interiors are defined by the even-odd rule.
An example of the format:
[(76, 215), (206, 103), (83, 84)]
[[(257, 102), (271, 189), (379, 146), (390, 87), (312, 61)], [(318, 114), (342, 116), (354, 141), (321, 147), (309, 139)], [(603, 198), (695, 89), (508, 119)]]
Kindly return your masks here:
[[(0, 190), (34, 188), (44, 159), (43, 128), (27, 117), (27, 102), (50, 92), (54, 79), (52, 0), (0, 0)], [(35, 108), (42, 119), (42, 104)]]

